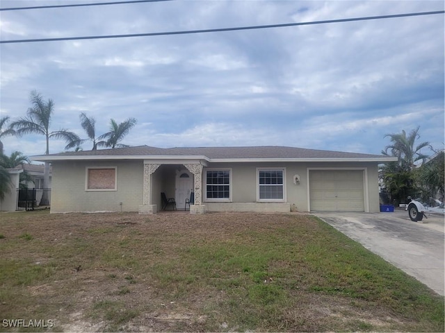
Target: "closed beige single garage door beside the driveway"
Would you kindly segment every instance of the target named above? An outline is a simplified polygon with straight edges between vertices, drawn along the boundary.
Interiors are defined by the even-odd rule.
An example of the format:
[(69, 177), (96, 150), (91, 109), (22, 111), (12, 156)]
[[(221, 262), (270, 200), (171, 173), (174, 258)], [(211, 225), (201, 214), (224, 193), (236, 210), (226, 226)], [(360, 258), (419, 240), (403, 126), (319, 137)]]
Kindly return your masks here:
[(311, 211), (364, 212), (363, 170), (310, 170)]

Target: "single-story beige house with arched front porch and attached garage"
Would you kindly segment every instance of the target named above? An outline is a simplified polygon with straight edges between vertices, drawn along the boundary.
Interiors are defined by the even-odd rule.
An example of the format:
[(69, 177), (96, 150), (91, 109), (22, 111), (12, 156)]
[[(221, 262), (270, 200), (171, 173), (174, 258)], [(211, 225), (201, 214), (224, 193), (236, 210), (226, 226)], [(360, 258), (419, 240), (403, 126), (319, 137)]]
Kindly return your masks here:
[(378, 164), (396, 157), (282, 146), (136, 146), (33, 156), (53, 167), (51, 212), (379, 212)]

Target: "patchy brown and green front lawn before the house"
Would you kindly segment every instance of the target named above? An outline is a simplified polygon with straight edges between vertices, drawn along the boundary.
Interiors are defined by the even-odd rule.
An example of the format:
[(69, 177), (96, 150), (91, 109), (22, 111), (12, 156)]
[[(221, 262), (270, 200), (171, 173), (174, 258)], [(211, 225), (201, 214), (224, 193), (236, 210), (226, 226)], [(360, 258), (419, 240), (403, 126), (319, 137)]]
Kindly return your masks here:
[(314, 216), (3, 213), (0, 234), (3, 331), (444, 331), (444, 298)]

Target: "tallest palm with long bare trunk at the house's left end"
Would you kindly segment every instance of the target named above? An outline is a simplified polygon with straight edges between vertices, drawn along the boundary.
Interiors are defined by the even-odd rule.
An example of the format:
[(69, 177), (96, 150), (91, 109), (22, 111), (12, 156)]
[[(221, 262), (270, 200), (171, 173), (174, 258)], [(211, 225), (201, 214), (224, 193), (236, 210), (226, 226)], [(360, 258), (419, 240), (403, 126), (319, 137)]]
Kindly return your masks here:
[[(68, 144), (79, 140), (79, 137), (61, 128), (60, 130), (50, 131), (49, 126), (51, 125), (51, 115), (54, 112), (54, 101), (48, 99), (47, 102), (43, 101), (42, 95), (35, 90), (31, 92), (29, 97), (31, 101), (32, 108), (29, 108), (26, 112), (27, 117), (20, 118), (17, 121), (13, 121), (10, 128), (15, 130), (15, 135), (21, 137), (26, 134), (40, 134), (44, 135), (47, 140), (47, 146), (45, 154), (49, 155), (49, 139), (64, 139)], [(65, 147), (67, 149), (67, 147)], [(49, 187), (49, 163), (44, 163), (44, 174), (43, 174), (43, 187), (47, 189)], [(42, 196), (42, 205), (49, 205), (49, 200), (47, 196), (47, 191), (44, 191)]]

